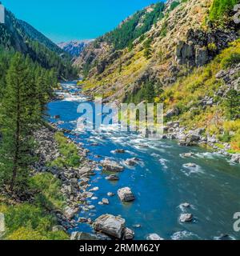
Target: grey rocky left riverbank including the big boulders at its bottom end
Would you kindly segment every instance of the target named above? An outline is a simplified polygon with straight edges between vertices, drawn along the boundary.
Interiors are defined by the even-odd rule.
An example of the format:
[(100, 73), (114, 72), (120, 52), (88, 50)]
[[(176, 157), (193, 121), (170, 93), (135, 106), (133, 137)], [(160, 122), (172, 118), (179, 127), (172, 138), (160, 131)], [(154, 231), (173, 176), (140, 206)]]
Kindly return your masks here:
[[(92, 225), (96, 234), (74, 232), (71, 234), (71, 240), (133, 239), (134, 232), (125, 226), (126, 221), (121, 217), (105, 214), (94, 221), (90, 218), (79, 218), (78, 221), (74, 220), (74, 216), (80, 210), (90, 210), (93, 207), (88, 202), (88, 198), (94, 198), (94, 188), (90, 189), (89, 182), (90, 176), (94, 175), (94, 170), (96, 170), (97, 166), (96, 162), (86, 158), (86, 150), (78, 144), (75, 145), (78, 147), (78, 154), (82, 159), (79, 168), (50, 166), (50, 162), (61, 157), (61, 153), (58, 150), (58, 143), (54, 140), (54, 134), (62, 130), (52, 125), (42, 127), (34, 134), (35, 141), (38, 143), (38, 149), (35, 151), (38, 155), (38, 162), (34, 164), (32, 174), (49, 172), (62, 182), (61, 192), (66, 198), (66, 206), (64, 210), (54, 210), (59, 225), (54, 226), (53, 230), (67, 231), (74, 228), (80, 222)], [(68, 139), (68, 142), (73, 143), (70, 139)], [(104, 164), (102, 166), (106, 167)], [(123, 170), (123, 166), (116, 166), (114, 162), (108, 162), (107, 166), (112, 171), (115, 171), (114, 168), (117, 167), (121, 167), (121, 170)], [(102, 199), (103, 204), (107, 204), (106, 202), (108, 202), (108, 199)]]

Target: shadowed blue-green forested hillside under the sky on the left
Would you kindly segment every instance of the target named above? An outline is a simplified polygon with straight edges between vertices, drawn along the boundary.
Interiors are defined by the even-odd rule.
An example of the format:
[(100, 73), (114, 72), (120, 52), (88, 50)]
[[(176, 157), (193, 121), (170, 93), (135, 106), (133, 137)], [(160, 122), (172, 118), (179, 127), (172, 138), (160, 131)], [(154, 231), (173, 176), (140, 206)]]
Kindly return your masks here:
[(0, 46), (30, 55), (32, 60), (46, 69), (54, 68), (59, 78), (76, 75), (68, 54), (34, 27), (19, 21), (9, 10), (6, 10), (6, 23), (0, 24)]

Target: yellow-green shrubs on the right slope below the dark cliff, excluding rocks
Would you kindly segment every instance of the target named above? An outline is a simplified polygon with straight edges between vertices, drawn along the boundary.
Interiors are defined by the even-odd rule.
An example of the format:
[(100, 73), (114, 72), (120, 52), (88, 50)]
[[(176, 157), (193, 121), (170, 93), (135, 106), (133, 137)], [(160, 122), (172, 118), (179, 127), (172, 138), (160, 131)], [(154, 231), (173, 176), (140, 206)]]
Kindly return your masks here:
[[(207, 66), (195, 69), (192, 74), (182, 78), (174, 86), (166, 88), (156, 101), (164, 101), (166, 110), (174, 106), (178, 107), (181, 114), (173, 119), (180, 119), (182, 126), (188, 127), (189, 130), (206, 127), (206, 133), (216, 134), (222, 142), (230, 142), (232, 151), (239, 152), (240, 120), (230, 121), (227, 118), (225, 99), (214, 97), (218, 88), (224, 85), (224, 82), (215, 78), (215, 75), (220, 70), (226, 69), (226, 63), (233, 61), (232, 58), (236, 55), (240, 55), (240, 41), (233, 42)], [(214, 102), (218, 102), (218, 106), (207, 106), (203, 109), (199, 101), (205, 96), (213, 97)], [(225, 139), (224, 134), (231, 134), (230, 138)]]

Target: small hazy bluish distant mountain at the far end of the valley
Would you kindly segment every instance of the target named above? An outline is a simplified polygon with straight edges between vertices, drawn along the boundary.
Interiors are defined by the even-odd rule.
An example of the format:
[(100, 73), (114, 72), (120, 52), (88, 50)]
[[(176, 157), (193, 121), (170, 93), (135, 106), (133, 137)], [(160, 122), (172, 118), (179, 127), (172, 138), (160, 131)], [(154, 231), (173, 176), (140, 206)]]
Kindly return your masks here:
[(93, 40), (72, 40), (70, 42), (60, 42), (58, 43), (58, 46), (66, 51), (66, 53), (78, 57), (82, 50)]

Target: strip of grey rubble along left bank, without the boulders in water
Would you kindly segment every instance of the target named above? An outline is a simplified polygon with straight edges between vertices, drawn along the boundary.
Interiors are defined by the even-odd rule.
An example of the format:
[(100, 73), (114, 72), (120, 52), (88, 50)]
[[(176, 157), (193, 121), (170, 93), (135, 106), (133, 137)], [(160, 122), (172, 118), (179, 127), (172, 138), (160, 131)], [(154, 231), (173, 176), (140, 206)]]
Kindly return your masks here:
[[(38, 155), (38, 162), (34, 164), (32, 174), (49, 172), (62, 182), (61, 192), (66, 198), (66, 207), (63, 211), (56, 210), (55, 214), (59, 225), (68, 230), (75, 226), (76, 222), (73, 218), (80, 210), (80, 206), (86, 206), (87, 204), (88, 176), (93, 174), (96, 166), (94, 162), (86, 158), (86, 150), (79, 145), (78, 154), (82, 159), (79, 168), (50, 166), (50, 162), (61, 156), (58, 150), (58, 143), (54, 140), (54, 134), (57, 131), (59, 130), (52, 126), (42, 127), (35, 132), (34, 138), (38, 143), (38, 149), (35, 153)], [(72, 143), (70, 139), (68, 139), (68, 142)], [(91, 221), (89, 220), (89, 222)]]

